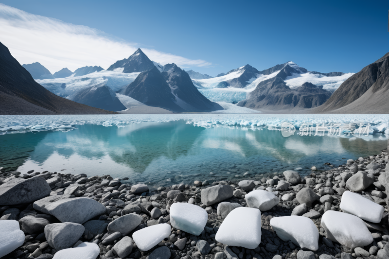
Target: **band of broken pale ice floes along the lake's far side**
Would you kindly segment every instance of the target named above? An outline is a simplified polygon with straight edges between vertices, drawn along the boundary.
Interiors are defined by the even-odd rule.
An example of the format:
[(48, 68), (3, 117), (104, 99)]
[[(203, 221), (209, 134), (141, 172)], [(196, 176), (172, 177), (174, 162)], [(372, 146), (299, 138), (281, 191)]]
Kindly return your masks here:
[[(223, 104), (223, 103), (219, 103)], [(224, 106), (223, 106), (224, 105)], [(70, 131), (77, 125), (96, 124), (106, 127), (126, 127), (141, 122), (185, 121), (197, 127), (234, 127), (242, 129), (282, 130), (282, 123), (289, 122), (298, 130), (307, 123), (313, 127), (329, 123), (370, 123), (368, 135), (375, 133), (389, 134), (389, 115), (377, 114), (231, 114), (236, 105), (224, 103), (230, 113), (203, 114), (120, 114), (120, 115), (4, 115), (0, 116), (0, 135), (36, 131)], [(240, 107), (241, 108), (241, 107)], [(248, 109), (250, 110), (250, 109)], [(225, 112), (226, 112), (225, 111)], [(223, 111), (222, 111), (223, 112)], [(356, 126), (358, 128), (358, 126)], [(342, 132), (347, 132), (346, 129)], [(365, 135), (363, 135), (365, 136)], [(369, 139), (370, 137), (366, 138)], [(362, 137), (362, 136), (361, 136)], [(356, 137), (353, 137), (356, 138)], [(365, 137), (364, 137), (365, 138)]]

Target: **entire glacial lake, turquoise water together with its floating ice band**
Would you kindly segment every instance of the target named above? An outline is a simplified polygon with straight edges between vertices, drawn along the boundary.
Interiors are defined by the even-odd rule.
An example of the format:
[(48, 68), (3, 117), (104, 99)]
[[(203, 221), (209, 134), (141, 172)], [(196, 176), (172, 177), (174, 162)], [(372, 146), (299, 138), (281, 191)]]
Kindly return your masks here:
[[(283, 137), (332, 121), (371, 123), (372, 134)], [(167, 186), (182, 181), (240, 179), (310, 168), (329, 170), (347, 159), (386, 149), (388, 115), (45, 115), (0, 116), (0, 167), (26, 173), (86, 173)], [(342, 134), (343, 135), (343, 134)], [(347, 135), (347, 134), (346, 134)]]

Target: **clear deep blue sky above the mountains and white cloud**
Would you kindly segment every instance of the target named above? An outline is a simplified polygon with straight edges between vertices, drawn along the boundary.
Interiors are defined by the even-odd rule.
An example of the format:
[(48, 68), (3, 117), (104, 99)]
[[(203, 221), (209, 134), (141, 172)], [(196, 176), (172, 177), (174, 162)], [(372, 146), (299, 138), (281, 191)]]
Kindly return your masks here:
[[(186, 70), (212, 76), (246, 64), (262, 70), (287, 61), (311, 71), (357, 72), (389, 52), (389, 1), (0, 0), (0, 3), (101, 30), (134, 48), (183, 57), (190, 60), (182, 62)], [(2, 35), (1, 42), (8, 40), (3, 38), (7, 35)], [(7, 47), (12, 53), (13, 46)], [(109, 50), (106, 52), (109, 54)], [(56, 56), (55, 52), (48, 55)], [(115, 58), (120, 55), (116, 53)], [(123, 53), (120, 59), (128, 56)], [(34, 57), (41, 58), (36, 54), (29, 60)], [(170, 60), (161, 55), (154, 59), (158, 58)], [(54, 62), (49, 60), (47, 57), (41, 63)], [(193, 60), (197, 63), (191, 63)], [(53, 73), (57, 67), (52, 67), (49, 70)]]

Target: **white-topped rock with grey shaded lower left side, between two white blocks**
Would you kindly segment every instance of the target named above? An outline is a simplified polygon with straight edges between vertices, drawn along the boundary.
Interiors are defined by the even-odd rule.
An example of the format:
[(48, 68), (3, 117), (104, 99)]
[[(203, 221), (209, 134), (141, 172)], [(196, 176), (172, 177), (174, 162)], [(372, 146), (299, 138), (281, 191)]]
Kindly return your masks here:
[(276, 217), (270, 225), (283, 241), (292, 241), (301, 248), (318, 250), (319, 232), (312, 220), (301, 216)]

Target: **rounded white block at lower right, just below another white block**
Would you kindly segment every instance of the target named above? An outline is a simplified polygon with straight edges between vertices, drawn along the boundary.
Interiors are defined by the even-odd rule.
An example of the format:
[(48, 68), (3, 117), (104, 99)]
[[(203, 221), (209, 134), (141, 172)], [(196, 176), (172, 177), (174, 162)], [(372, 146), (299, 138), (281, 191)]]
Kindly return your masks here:
[(348, 248), (363, 247), (373, 242), (366, 224), (357, 216), (328, 210), (321, 217), (326, 238)]

